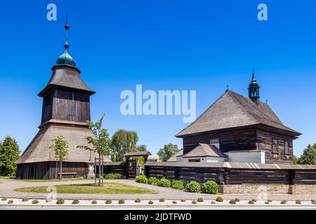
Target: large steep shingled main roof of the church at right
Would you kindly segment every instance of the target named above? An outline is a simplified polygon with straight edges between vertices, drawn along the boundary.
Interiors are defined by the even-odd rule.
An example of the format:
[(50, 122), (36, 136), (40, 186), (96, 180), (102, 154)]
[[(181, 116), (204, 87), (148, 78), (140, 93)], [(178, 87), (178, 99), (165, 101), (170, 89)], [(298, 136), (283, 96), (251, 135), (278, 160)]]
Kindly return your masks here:
[(268, 104), (260, 102), (257, 106), (248, 97), (227, 90), (197, 120), (176, 134), (176, 137), (258, 124), (292, 132), (295, 136), (300, 134), (283, 125)]

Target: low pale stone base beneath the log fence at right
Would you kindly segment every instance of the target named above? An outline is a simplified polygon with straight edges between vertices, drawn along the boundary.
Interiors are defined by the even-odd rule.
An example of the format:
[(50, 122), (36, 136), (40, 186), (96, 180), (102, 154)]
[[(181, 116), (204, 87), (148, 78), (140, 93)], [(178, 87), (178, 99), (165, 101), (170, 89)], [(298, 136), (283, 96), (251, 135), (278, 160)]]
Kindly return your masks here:
[(258, 195), (316, 195), (316, 185), (231, 184), (221, 185), (220, 193)]

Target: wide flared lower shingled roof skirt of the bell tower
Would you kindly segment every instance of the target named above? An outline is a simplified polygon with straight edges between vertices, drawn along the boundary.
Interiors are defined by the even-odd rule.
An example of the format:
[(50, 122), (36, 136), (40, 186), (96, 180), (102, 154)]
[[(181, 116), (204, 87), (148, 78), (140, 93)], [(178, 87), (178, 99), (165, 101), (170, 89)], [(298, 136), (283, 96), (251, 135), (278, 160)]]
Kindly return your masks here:
[[(56, 161), (55, 152), (48, 147), (52, 144), (51, 139), (58, 136), (64, 137), (68, 143), (68, 155), (65, 162), (88, 162), (90, 160), (90, 152), (77, 148), (77, 146), (88, 146), (85, 138), (93, 136), (91, 129), (82, 126), (48, 125), (39, 130), (17, 163)], [(98, 158), (98, 154), (91, 153), (93, 161), (95, 157)], [(111, 160), (105, 157), (104, 162), (111, 162)]]

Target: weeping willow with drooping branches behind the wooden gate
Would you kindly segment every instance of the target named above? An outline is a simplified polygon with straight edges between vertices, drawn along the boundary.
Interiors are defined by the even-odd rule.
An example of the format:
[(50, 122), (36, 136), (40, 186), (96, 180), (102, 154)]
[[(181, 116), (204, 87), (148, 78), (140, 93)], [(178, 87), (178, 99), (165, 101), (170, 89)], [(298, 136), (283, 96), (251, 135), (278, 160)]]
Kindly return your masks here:
[(111, 148), (116, 152), (112, 156), (113, 162), (123, 161), (124, 154), (130, 152), (136, 152), (138, 142), (138, 134), (133, 131), (117, 130), (112, 136)]

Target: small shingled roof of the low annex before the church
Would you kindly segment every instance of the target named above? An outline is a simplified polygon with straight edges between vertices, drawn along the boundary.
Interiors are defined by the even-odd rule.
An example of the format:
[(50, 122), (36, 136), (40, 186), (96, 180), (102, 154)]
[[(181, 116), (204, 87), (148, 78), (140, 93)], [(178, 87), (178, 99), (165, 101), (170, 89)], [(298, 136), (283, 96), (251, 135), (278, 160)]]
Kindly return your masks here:
[(224, 153), (222, 153), (222, 151), (220, 151), (216, 146), (200, 143), (197, 145), (197, 147), (193, 148), (192, 151), (183, 155), (183, 158), (204, 157), (204, 156), (222, 157), (222, 158), (226, 157), (226, 155), (224, 155)]

